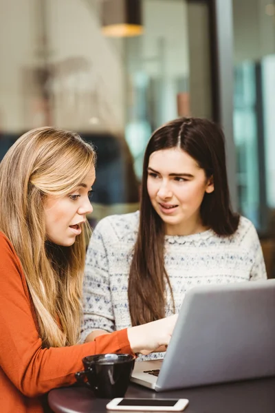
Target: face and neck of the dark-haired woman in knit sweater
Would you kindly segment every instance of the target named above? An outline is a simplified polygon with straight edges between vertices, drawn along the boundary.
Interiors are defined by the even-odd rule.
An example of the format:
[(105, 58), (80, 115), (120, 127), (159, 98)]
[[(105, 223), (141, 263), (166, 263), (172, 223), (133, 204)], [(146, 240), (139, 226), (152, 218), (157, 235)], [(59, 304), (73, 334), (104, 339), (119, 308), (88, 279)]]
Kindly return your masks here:
[(204, 231), (201, 202), (206, 192), (214, 191), (214, 184), (188, 153), (179, 148), (151, 153), (147, 190), (153, 208), (164, 221), (166, 234)]

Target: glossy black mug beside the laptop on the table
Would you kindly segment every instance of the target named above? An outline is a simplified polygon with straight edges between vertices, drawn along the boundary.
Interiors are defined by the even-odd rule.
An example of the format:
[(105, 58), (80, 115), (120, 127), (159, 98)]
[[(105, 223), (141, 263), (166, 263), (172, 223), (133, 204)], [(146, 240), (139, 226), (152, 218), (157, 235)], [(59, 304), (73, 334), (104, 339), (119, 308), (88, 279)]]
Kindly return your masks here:
[(76, 372), (78, 383), (88, 385), (97, 397), (124, 396), (135, 365), (133, 354), (96, 354), (84, 357), (82, 361), (85, 370)]

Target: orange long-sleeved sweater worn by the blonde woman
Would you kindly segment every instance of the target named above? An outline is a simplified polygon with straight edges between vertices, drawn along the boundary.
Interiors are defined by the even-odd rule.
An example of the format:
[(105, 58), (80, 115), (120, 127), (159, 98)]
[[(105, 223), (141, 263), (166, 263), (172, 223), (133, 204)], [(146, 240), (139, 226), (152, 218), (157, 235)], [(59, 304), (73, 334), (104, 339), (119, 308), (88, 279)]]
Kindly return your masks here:
[(19, 257), (0, 232), (0, 412), (43, 412), (43, 394), (72, 385), (83, 357), (106, 352), (131, 353), (126, 329), (78, 346), (41, 348)]

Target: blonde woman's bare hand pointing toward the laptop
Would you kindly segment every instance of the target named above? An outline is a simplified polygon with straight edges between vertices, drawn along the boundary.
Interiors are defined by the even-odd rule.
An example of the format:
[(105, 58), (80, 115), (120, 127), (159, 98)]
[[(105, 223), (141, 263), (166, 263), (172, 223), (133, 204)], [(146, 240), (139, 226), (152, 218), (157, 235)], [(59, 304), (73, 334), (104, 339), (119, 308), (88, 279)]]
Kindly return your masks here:
[(133, 352), (148, 354), (160, 346), (168, 346), (177, 321), (177, 314), (128, 328), (128, 339)]

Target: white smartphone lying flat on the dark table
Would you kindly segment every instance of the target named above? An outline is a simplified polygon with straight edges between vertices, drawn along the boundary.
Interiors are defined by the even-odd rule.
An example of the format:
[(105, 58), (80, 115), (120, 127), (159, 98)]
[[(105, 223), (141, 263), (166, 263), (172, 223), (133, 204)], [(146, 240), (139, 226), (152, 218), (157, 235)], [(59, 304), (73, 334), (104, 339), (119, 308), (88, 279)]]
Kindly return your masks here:
[(188, 405), (187, 399), (118, 399), (111, 400), (108, 410), (131, 410), (147, 412), (181, 412)]

